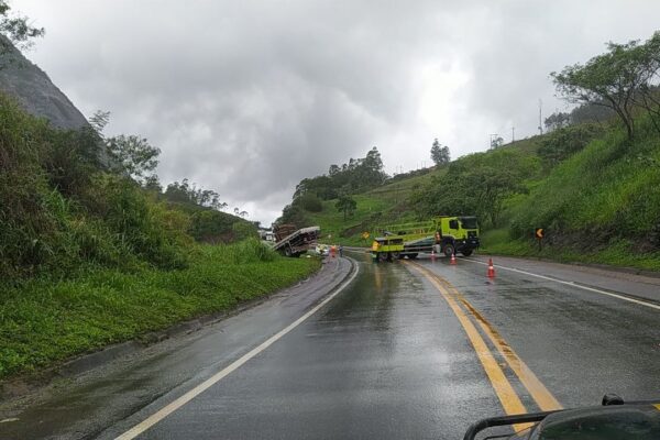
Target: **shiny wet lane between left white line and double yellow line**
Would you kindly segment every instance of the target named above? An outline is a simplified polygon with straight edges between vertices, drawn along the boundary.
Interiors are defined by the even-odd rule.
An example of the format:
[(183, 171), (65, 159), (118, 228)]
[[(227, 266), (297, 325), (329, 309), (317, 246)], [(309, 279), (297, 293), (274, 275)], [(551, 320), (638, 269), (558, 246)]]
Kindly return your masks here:
[(365, 260), (326, 309), (141, 438), (459, 438), (494, 408), (444, 300)]

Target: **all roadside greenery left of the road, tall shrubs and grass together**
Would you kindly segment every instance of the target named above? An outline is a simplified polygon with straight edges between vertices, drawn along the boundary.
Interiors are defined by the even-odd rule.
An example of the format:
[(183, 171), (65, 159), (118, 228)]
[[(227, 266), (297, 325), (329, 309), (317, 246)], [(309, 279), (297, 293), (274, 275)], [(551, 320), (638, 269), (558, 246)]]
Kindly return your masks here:
[[(94, 120), (92, 120), (94, 122)], [(0, 378), (228, 310), (309, 276), (157, 148), (59, 131), (0, 95)]]

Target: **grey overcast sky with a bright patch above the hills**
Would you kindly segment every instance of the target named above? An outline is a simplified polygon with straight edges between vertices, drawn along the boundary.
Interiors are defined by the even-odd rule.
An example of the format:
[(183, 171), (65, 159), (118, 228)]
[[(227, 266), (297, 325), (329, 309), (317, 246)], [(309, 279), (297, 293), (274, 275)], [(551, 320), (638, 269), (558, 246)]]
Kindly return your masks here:
[(46, 28), (28, 57), (107, 133), (163, 153), (270, 224), (304, 177), (363, 157), (387, 173), (537, 133), (549, 73), (648, 38), (660, 2), (13, 0)]

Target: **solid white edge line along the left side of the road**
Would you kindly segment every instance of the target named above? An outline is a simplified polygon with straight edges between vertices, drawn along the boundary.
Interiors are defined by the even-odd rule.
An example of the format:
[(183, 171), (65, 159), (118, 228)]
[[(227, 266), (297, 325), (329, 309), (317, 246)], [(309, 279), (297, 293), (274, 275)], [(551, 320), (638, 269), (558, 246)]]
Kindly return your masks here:
[(345, 280), (339, 288), (337, 288), (337, 290), (334, 290), (326, 299), (323, 299), (321, 302), (319, 302), (316, 307), (314, 307), (312, 309), (307, 311), (305, 315), (302, 315), (300, 318), (296, 319), (294, 322), (288, 324), (283, 330), (278, 331), (277, 333), (275, 333), (274, 336), (268, 338), (266, 341), (262, 342), (258, 346), (250, 350), (248, 353), (245, 353), (244, 355), (242, 355), (241, 358), (239, 358), (238, 360), (232, 362), (229, 366), (227, 366), (223, 370), (219, 371), (218, 373), (213, 374), (211, 377), (207, 378), (201, 384), (197, 385), (195, 388), (190, 389), (189, 392), (187, 392), (186, 394), (184, 394), (176, 400), (174, 400), (170, 404), (168, 404), (167, 406), (158, 409), (156, 413), (154, 413), (146, 419), (142, 420), (140, 424), (135, 425), (133, 428), (129, 429), (121, 436), (117, 437), (116, 440), (131, 440), (131, 439), (134, 439), (135, 437), (140, 436), (142, 432), (146, 431), (148, 428), (153, 427), (158, 421), (163, 420), (165, 417), (169, 416), (172, 413), (176, 411), (182, 406), (186, 405), (188, 402), (193, 400), (195, 397), (199, 396), (201, 393), (204, 393), (205, 391), (207, 391), (208, 388), (213, 386), (216, 383), (221, 381), (223, 377), (228, 376), (233, 371), (240, 369), (243, 364), (245, 364), (252, 358), (256, 356), (258, 353), (266, 350), (274, 342), (276, 342), (282, 337), (284, 337), (286, 333), (288, 333), (289, 331), (292, 331), (293, 329), (298, 327), (300, 323), (302, 323), (302, 321), (305, 321), (307, 318), (309, 318), (310, 316), (312, 316), (314, 314), (319, 311), (319, 309), (321, 307), (323, 307), (324, 305), (330, 302), (332, 300), (332, 298), (334, 298), (337, 295), (339, 295), (340, 292), (342, 292), (349, 284), (351, 284), (351, 282), (353, 279), (355, 279), (355, 277), (358, 276), (358, 273), (360, 272), (360, 267), (355, 263), (352, 263), (352, 264), (354, 264), (354, 267), (355, 267), (353, 275), (348, 280)]

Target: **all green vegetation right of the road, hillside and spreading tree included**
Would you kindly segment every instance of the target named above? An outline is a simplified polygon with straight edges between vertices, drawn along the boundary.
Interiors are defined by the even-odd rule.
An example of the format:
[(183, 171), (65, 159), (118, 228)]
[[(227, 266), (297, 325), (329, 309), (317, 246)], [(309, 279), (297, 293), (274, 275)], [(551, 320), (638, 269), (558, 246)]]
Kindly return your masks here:
[[(483, 252), (660, 271), (660, 33), (609, 43), (585, 64), (552, 73), (558, 94), (576, 103), (544, 121), (546, 134), (410, 175), (387, 177), (353, 195), (345, 219), (333, 209), (301, 218), (332, 241), (369, 245), (362, 232), (432, 216), (476, 215)], [(321, 179), (317, 177), (316, 179)], [(302, 187), (294, 197), (309, 197)], [(542, 228), (544, 239), (535, 239)], [(336, 239), (337, 238), (337, 239)]]

